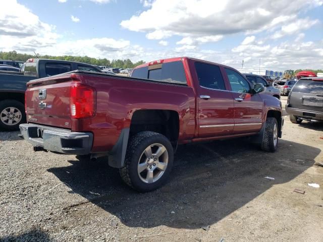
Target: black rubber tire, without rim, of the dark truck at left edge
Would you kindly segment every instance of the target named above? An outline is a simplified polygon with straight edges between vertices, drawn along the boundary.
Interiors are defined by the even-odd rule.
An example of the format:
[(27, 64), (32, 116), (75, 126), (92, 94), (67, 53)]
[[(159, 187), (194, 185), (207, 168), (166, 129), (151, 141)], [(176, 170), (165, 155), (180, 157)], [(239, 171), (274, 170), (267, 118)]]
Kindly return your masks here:
[[(18, 109), (21, 113), (21, 119), (19, 122), (16, 122), (16, 120), (13, 120), (13, 125), (9, 124), (9, 120), (3, 120), (4, 117), (4, 110), (8, 110), (9, 107), (14, 107), (15, 109)], [(12, 114), (13, 115), (13, 114)], [(25, 113), (25, 106), (23, 103), (13, 100), (13, 99), (7, 99), (0, 101), (0, 129), (6, 130), (6, 131), (11, 131), (11, 130), (19, 130), (19, 125), (26, 123), (26, 113)]]

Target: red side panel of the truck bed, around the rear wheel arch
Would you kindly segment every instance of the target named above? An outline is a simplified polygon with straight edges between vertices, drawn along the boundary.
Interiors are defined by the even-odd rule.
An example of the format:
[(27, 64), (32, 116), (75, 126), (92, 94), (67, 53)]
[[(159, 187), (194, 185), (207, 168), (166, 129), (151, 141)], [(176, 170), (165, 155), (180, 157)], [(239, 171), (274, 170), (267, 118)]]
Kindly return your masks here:
[(139, 109), (174, 110), (179, 115), (179, 142), (189, 140), (195, 130), (193, 88), (122, 77), (75, 75), (83, 84), (96, 89), (96, 115), (81, 119), (75, 131), (93, 132), (92, 152), (112, 149), (121, 131), (129, 128)]

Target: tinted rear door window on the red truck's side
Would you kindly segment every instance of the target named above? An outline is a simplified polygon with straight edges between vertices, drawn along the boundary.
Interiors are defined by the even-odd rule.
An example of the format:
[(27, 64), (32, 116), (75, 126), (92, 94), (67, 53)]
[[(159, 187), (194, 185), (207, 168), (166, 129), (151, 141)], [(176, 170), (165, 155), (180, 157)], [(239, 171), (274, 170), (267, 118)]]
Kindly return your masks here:
[(218, 66), (195, 62), (195, 70), (201, 87), (226, 90), (224, 80)]

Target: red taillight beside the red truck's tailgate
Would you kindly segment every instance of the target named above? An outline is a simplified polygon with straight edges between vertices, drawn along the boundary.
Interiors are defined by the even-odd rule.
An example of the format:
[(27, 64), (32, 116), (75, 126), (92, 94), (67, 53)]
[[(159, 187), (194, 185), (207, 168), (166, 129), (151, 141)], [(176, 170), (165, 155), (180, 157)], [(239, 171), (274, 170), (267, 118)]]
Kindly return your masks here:
[(95, 89), (74, 83), (70, 91), (71, 118), (93, 117), (95, 115)]

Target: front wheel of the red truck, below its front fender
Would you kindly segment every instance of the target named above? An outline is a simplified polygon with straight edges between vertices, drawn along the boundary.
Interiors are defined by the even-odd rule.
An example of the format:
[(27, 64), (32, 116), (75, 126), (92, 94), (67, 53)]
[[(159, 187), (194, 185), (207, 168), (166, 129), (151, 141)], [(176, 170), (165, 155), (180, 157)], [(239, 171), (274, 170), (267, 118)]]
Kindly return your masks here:
[[(277, 142), (274, 139), (274, 130), (276, 125)], [(267, 117), (264, 133), (261, 142), (261, 149), (267, 152), (275, 152), (278, 147), (278, 123), (275, 117)]]

